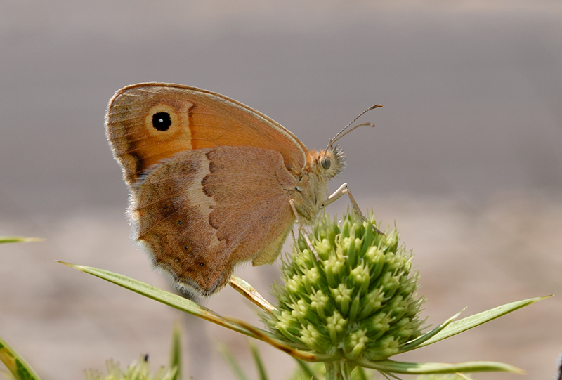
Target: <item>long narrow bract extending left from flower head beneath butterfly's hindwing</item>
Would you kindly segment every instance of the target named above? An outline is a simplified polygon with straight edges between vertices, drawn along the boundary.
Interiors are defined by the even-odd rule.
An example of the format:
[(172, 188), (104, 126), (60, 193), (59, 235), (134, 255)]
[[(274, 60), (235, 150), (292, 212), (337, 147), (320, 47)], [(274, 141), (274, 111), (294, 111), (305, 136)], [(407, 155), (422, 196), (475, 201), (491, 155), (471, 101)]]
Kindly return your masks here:
[[(251, 336), (252, 338), (256, 339), (261, 339), (258, 335), (254, 334), (254, 332), (250, 332), (249, 329), (246, 329), (240, 324), (232, 322), (231, 320), (218, 315), (213, 310), (209, 310), (208, 308), (201, 306), (199, 303), (193, 302), (189, 299), (185, 299), (182, 296), (170, 293), (169, 291), (153, 287), (146, 282), (135, 280), (124, 275), (119, 275), (118, 273), (113, 273), (109, 270), (93, 268), (90, 266), (80, 266), (76, 264), (65, 263), (63, 261), (58, 261), (58, 263), (69, 266), (70, 268), (80, 270), (81, 272), (100, 277), (103, 280), (112, 282), (113, 284), (119, 285), (120, 287), (124, 287), (125, 289), (134, 291), (138, 294), (148, 297), (149, 299), (153, 299), (155, 301), (164, 303), (164, 305), (168, 305), (172, 308), (185, 311), (185, 313), (190, 313), (192, 315), (195, 315), (196, 317), (200, 317), (204, 320), (208, 320), (209, 322), (216, 323), (216, 325), (234, 330), (235, 332), (240, 332), (240, 334)], [(263, 330), (258, 329), (257, 327), (254, 328), (260, 332), (263, 332)], [(266, 332), (263, 332), (263, 334), (266, 334)]]

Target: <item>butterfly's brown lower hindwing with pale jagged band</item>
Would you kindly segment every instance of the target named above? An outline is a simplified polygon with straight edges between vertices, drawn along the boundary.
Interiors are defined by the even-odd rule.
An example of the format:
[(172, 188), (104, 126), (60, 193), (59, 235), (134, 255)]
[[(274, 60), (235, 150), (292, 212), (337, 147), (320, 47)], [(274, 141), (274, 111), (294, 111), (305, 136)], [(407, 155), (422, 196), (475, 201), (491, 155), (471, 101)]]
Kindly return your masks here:
[(155, 265), (183, 289), (209, 295), (237, 263), (277, 258), (292, 228), (287, 191), (295, 184), (273, 150), (189, 150), (141, 178), (130, 211)]

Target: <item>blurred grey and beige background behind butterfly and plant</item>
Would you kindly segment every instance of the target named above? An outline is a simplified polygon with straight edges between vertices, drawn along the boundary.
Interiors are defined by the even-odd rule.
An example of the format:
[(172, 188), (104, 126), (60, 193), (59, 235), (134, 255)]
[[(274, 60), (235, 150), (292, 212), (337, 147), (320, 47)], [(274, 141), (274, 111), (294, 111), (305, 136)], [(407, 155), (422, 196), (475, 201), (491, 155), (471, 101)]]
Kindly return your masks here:
[[(0, 336), (44, 380), (114, 358), (166, 364), (184, 325), (185, 374), (252, 379), (242, 336), (184, 317), (56, 260), (168, 287), (129, 237), (127, 190), (105, 140), (107, 102), (141, 81), (240, 100), (308, 148), (366, 107), (375, 129), (341, 141), (359, 204), (396, 225), (437, 325), (554, 294), (396, 360), (495, 360), (549, 379), (562, 349), (562, 2), (38, 1), (0, 3)], [(329, 209), (340, 214), (348, 202)], [(289, 246), (287, 245), (287, 250)], [(240, 268), (263, 294), (277, 266)], [(232, 289), (204, 303), (257, 322)], [(272, 379), (294, 367), (260, 345)], [(514, 379), (478, 374), (478, 379)]]

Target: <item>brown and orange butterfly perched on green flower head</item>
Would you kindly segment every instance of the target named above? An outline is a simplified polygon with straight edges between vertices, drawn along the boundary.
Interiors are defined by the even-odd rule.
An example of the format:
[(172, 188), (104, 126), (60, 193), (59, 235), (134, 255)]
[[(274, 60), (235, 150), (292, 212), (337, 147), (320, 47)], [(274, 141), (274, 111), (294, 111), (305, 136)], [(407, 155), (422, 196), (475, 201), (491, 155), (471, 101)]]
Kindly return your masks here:
[(136, 240), (192, 294), (219, 291), (244, 261), (273, 263), (294, 222), (303, 232), (341, 195), (360, 212), (347, 184), (327, 192), (328, 180), (345, 167), (344, 152), (333, 145), (345, 129), (325, 150), (308, 150), (247, 105), (163, 83), (117, 91), (106, 127), (131, 190)]

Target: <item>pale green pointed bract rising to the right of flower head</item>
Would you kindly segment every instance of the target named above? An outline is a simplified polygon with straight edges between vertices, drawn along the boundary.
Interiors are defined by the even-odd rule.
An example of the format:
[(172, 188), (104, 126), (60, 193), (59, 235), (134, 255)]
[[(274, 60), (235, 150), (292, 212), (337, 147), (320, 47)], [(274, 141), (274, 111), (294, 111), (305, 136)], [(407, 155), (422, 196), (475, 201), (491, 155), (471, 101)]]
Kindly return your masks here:
[(429, 346), (432, 343), (436, 343), (438, 341), (442, 341), (443, 339), (449, 338), (450, 336), (460, 334), (461, 332), (465, 332), (468, 329), (472, 329), (473, 327), (482, 325), (485, 322), (490, 322), (491, 320), (495, 320), (496, 318), (509, 314), (512, 311), (524, 308), (525, 306), (529, 306), (531, 303), (535, 303), (549, 297), (551, 296), (534, 297), (532, 299), (524, 299), (523, 301), (506, 303), (505, 305), (498, 306), (497, 308), (485, 310), (481, 313), (463, 318), (462, 320), (451, 322), (440, 332), (432, 336), (430, 339), (427, 339), (426, 341), (420, 343), (419, 346), (415, 348)]

